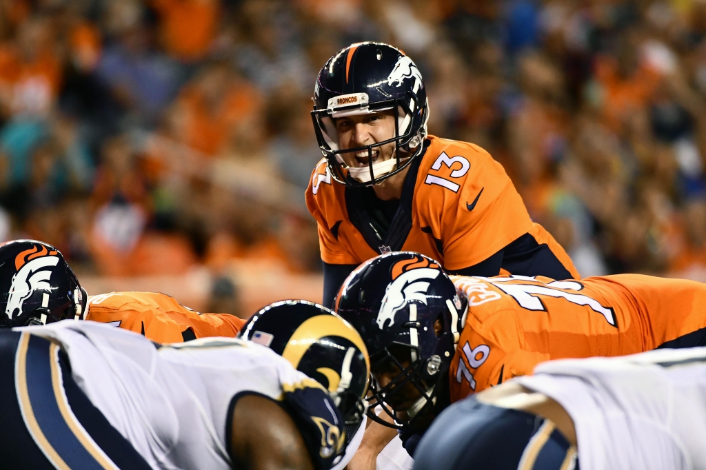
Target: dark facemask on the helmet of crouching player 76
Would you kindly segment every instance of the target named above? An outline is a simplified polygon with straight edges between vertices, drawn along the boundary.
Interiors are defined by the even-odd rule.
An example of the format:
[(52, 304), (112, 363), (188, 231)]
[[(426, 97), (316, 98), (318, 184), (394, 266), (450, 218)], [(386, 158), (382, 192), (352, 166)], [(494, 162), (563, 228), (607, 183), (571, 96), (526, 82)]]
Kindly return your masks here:
[[(399, 342), (390, 343), (390, 345), (392, 344), (401, 344), (402, 346), (408, 347), (409, 349), (414, 351), (415, 354), (417, 354), (417, 357), (419, 357), (418, 347), (412, 347), (409, 344)], [(397, 376), (393, 380), (391, 380), (388, 385), (385, 385), (385, 387), (379, 387), (378, 382), (375, 380), (375, 378), (371, 376), (370, 390), (372, 392), (372, 397), (371, 399), (369, 399), (368, 417), (376, 423), (380, 423), (383, 426), (387, 426), (388, 428), (408, 428), (409, 426), (412, 426), (412, 424), (417, 420), (419, 416), (424, 415), (424, 413), (422, 413), (421, 411), (424, 411), (424, 409), (428, 408), (429, 406), (433, 406), (434, 399), (436, 398), (436, 387), (432, 386), (429, 389), (424, 389), (419, 384), (422, 375), (422, 367), (424, 366), (423, 361), (417, 359), (405, 368), (404, 366), (402, 366), (402, 363), (400, 363), (400, 361), (397, 361), (397, 358), (395, 358), (395, 356), (390, 353), (387, 347), (385, 347), (383, 351), (385, 351), (385, 355), (382, 356), (376, 362), (376, 365), (385, 360), (392, 359), (393, 363), (395, 363), (395, 366), (397, 366), (397, 368), (399, 368), (402, 372), (397, 374)], [(411, 382), (412, 385), (414, 385), (417, 391), (421, 394), (421, 397), (419, 397), (419, 399), (415, 403), (419, 403), (420, 400), (424, 400), (424, 404), (418, 407), (419, 409), (417, 409), (417, 412), (414, 414), (414, 416), (411, 416), (407, 420), (402, 420), (397, 416), (398, 410), (394, 409), (393, 406), (385, 402), (385, 397), (387, 397), (388, 399), (389, 397), (393, 397), (397, 392), (402, 390), (402, 387), (405, 387), (405, 385), (407, 385), (407, 383), (409, 382)], [(379, 418), (375, 414), (375, 408), (378, 405), (380, 405), (381, 409), (383, 410), (383, 412), (385, 412), (385, 414), (390, 416), (390, 418), (393, 418), (393, 423), (384, 421), (382, 418)]]

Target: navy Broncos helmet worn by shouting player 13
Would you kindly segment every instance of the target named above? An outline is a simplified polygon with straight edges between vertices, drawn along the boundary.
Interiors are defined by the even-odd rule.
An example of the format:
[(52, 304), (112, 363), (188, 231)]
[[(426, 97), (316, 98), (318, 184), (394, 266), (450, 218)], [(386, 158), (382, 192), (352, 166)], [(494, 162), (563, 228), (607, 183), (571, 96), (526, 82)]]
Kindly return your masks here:
[[(399, 173), (421, 154), (429, 105), (419, 68), (404, 52), (381, 42), (341, 49), (316, 78), (311, 112), (318, 145), (330, 174), (350, 187), (371, 186)], [(393, 110), (395, 135), (364, 147), (341, 150), (335, 119)], [(395, 143), (395, 158), (373, 164), (373, 148)], [(405, 152), (400, 161), (400, 150)], [(342, 153), (368, 152), (368, 168), (349, 168)], [(377, 168), (373, 168), (377, 167)]]

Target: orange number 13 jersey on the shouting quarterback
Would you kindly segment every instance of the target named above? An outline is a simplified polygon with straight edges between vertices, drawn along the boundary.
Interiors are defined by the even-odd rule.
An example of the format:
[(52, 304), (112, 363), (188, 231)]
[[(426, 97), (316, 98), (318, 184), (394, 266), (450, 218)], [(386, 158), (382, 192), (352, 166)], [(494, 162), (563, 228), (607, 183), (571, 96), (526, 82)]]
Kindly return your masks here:
[[(416, 251), (455, 271), (477, 265), (530, 234), (578, 278), (566, 252), (532, 222), (502, 165), (488, 152), (431, 135), (425, 145), (423, 155), (409, 164), (400, 209), (383, 237), (359, 210), (360, 190), (336, 183), (325, 159), (319, 162), (306, 190), (306, 205), (318, 222), (325, 263), (358, 265), (388, 251)], [(539, 264), (527, 263), (537, 272), (512, 273), (547, 274)]]

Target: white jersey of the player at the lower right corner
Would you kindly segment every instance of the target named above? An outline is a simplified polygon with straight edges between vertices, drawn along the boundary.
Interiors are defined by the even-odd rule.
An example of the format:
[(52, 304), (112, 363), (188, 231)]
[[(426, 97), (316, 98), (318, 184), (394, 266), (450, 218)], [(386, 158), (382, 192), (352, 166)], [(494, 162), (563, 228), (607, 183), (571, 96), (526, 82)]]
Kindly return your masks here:
[(581, 470), (706, 469), (706, 348), (563, 359), (513, 380), (566, 409)]

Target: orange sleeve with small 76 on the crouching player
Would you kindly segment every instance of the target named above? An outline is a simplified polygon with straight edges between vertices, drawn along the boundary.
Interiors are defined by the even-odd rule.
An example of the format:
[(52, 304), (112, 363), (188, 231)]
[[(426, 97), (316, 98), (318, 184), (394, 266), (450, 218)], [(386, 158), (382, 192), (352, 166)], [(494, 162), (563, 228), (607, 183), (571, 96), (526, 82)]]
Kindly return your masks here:
[(469, 315), (451, 363), (450, 396), (457, 402), (505, 380), (532, 373), (549, 354), (527, 351), (514, 310), (498, 311), (479, 322)]

